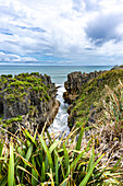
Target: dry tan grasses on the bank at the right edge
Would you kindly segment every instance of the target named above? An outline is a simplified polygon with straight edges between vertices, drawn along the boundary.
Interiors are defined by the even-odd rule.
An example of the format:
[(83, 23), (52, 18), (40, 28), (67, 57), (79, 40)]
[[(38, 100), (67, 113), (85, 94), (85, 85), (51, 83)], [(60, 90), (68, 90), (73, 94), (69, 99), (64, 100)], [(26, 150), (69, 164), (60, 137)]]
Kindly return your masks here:
[(95, 108), (96, 123), (90, 124), (89, 133), (95, 137), (96, 152), (104, 153), (101, 164), (109, 167), (109, 175), (115, 173), (118, 184), (123, 185), (123, 84), (119, 82), (113, 90), (106, 86), (107, 94)]

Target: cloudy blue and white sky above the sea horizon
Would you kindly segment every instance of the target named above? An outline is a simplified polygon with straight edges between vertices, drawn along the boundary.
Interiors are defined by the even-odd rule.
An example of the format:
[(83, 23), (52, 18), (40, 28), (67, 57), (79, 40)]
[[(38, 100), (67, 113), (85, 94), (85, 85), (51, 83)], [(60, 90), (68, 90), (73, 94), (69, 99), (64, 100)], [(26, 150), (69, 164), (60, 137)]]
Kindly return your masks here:
[(123, 65), (123, 0), (0, 0), (0, 65)]

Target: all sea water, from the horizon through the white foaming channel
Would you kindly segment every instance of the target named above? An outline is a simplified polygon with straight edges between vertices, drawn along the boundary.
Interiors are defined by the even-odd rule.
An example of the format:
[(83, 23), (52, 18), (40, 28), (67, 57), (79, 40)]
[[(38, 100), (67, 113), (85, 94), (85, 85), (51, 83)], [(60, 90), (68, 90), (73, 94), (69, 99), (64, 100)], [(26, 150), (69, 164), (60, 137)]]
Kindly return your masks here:
[(50, 133), (65, 132), (67, 135), (70, 129), (67, 127), (67, 104), (63, 101), (64, 82), (67, 80), (67, 74), (74, 71), (93, 72), (95, 70), (109, 70), (111, 66), (0, 66), (0, 74), (19, 74), (39, 72), (41, 74), (48, 74), (56, 85), (59, 86), (57, 93), (57, 100), (60, 102), (59, 112), (48, 128)]

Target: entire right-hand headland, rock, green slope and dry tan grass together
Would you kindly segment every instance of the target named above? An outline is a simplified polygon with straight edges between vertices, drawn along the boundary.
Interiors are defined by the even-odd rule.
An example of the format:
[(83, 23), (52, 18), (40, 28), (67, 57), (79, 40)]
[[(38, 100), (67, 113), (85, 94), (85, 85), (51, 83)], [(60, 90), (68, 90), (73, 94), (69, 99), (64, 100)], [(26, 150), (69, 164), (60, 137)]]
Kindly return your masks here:
[[(84, 146), (91, 139), (96, 153), (104, 153), (102, 163), (108, 162), (108, 165), (114, 166), (119, 160), (122, 167), (123, 69), (111, 69), (86, 82), (83, 82), (82, 77), (78, 79), (76, 77), (81, 77), (81, 72), (69, 74), (69, 80), (65, 82), (69, 103), (71, 103), (67, 109), (69, 127), (84, 129)], [(73, 82), (76, 82), (77, 86), (74, 86)], [(74, 88), (77, 88), (76, 94)], [(74, 101), (71, 100), (73, 92)]]

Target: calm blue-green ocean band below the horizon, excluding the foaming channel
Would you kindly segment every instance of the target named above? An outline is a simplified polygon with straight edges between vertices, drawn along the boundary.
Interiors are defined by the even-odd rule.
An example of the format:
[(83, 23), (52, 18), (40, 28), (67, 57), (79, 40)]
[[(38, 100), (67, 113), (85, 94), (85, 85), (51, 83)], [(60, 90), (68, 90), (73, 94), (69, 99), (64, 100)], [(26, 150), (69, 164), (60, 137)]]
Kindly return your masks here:
[(109, 70), (111, 66), (0, 66), (0, 74), (19, 74), (22, 72), (39, 72), (51, 77), (56, 84), (63, 84), (67, 73), (73, 71), (93, 72), (95, 70)]

